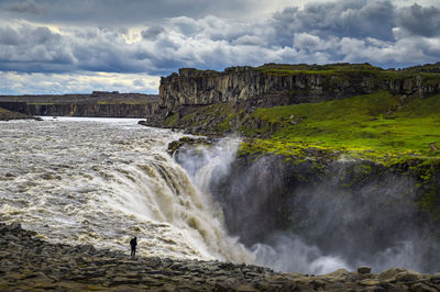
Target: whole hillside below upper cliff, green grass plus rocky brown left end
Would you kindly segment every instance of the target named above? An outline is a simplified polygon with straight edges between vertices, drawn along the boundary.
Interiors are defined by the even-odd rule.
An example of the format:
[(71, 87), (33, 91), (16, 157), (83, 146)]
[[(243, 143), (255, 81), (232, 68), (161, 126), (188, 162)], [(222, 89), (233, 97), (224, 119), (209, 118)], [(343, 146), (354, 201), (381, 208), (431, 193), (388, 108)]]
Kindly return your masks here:
[[(219, 103), (185, 116), (169, 115), (169, 127), (202, 134), (238, 133), (246, 151), (292, 155), (332, 151), (380, 162), (440, 158), (440, 96), (392, 96), (380, 91), (320, 103), (275, 108)], [(199, 130), (199, 131), (191, 131)], [(437, 144), (438, 143), (438, 144)]]

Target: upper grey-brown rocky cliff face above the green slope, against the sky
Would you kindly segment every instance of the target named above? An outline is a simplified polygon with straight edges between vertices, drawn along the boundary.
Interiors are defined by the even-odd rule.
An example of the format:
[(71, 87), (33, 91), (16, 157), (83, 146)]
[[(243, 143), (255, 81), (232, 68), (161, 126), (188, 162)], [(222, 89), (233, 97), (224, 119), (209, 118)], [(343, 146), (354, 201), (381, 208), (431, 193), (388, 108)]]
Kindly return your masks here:
[[(274, 66), (278, 66), (275, 67)], [(161, 79), (161, 106), (241, 102), (262, 99), (268, 105), (320, 102), (388, 90), (395, 94), (429, 96), (440, 92), (440, 79), (432, 74), (383, 70), (370, 65), (339, 65), (310, 68), (265, 65), (258, 68), (231, 67), (224, 71), (179, 69)], [(287, 69), (286, 69), (287, 68)], [(316, 69), (318, 68), (318, 69)], [(342, 68), (342, 69), (340, 69)]]

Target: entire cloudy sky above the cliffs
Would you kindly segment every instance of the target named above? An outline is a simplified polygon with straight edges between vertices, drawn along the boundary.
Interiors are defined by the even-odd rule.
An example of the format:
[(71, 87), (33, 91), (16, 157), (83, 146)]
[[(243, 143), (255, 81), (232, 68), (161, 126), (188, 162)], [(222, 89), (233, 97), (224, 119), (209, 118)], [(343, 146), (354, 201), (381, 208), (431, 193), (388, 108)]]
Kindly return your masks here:
[(0, 0), (0, 94), (156, 93), (180, 67), (440, 60), (440, 0)]

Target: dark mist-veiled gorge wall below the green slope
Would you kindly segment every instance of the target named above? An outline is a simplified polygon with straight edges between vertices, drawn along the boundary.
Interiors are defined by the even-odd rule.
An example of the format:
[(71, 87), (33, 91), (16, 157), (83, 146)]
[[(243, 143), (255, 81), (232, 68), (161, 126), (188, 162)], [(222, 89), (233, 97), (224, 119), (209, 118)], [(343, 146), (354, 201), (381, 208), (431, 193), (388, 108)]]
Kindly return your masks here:
[[(193, 146), (185, 148), (185, 143)], [(174, 157), (183, 167), (185, 161), (204, 159), (200, 147), (193, 149), (195, 144), (199, 141), (182, 139), (177, 145)], [(293, 257), (299, 248), (299, 237), (353, 267), (409, 265), (437, 271), (438, 224), (420, 207), (430, 188), (439, 183), (435, 166), (428, 167), (437, 170), (427, 181), (421, 175), (422, 161), (385, 167), (339, 159), (319, 149), (308, 149), (306, 156), (242, 153), (229, 171), (213, 169), (210, 191), (222, 206), (232, 235), (252, 248), (271, 246), (274, 268), (298, 269), (295, 262), (300, 262), (300, 255), (292, 261), (285, 257)], [(411, 254), (411, 248), (417, 254)]]

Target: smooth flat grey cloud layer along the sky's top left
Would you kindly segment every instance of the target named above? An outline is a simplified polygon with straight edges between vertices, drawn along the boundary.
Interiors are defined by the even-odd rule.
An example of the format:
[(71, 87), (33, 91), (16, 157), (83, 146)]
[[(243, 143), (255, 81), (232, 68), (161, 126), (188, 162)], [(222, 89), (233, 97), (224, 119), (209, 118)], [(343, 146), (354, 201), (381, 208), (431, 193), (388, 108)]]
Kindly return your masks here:
[[(29, 21), (75, 25), (120, 26), (152, 24), (164, 19), (206, 15), (243, 18), (267, 3), (264, 0), (2, 0), (0, 8), (12, 12), (29, 12)], [(250, 9), (253, 8), (253, 9)], [(40, 13), (44, 11), (44, 13)], [(3, 19), (13, 15), (3, 13)]]

